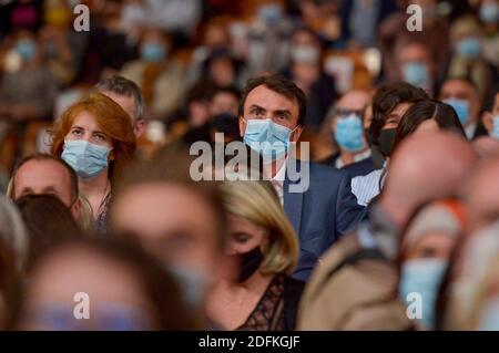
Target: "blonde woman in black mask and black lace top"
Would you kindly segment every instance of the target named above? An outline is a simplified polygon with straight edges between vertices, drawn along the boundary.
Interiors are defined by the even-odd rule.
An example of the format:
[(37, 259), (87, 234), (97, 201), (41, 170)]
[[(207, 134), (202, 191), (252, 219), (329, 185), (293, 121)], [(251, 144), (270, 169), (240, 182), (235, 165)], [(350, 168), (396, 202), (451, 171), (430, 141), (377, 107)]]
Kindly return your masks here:
[(298, 241), (269, 181), (224, 181), (232, 276), (210, 292), (207, 315), (222, 330), (294, 330), (304, 283), (289, 277)]

